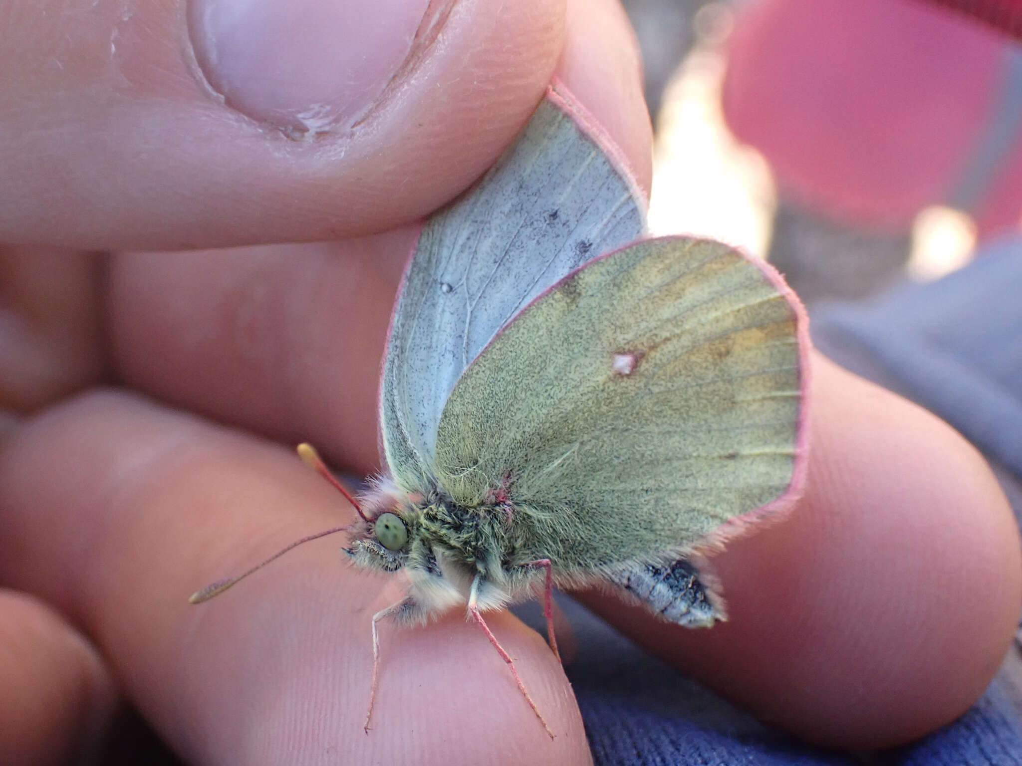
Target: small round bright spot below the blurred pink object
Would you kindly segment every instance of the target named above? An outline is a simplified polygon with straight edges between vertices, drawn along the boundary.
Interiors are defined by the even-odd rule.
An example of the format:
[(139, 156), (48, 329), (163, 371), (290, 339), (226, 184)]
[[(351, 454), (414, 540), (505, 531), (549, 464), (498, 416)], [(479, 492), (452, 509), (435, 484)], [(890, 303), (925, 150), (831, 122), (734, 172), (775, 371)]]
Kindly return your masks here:
[(920, 282), (939, 279), (968, 264), (975, 247), (976, 225), (967, 213), (942, 205), (927, 207), (913, 223), (909, 276)]

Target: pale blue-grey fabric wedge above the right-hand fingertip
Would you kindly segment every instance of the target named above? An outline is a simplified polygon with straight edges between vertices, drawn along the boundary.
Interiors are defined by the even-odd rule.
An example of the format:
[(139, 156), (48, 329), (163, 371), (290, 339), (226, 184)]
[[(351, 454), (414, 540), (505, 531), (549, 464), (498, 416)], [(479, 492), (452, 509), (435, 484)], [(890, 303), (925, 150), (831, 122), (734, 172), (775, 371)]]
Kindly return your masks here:
[(1022, 240), (938, 282), (828, 310), (812, 333), (834, 356), (871, 354), (901, 392), (1022, 476)]

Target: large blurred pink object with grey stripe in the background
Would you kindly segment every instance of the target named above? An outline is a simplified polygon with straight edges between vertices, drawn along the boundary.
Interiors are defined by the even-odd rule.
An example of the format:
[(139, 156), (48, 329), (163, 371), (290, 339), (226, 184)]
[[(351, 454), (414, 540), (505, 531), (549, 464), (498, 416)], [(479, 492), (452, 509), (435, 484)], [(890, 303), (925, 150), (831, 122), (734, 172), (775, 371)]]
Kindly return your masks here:
[(795, 202), (904, 231), (931, 204), (980, 236), (1022, 216), (1022, 45), (921, 0), (740, 6), (724, 108)]

